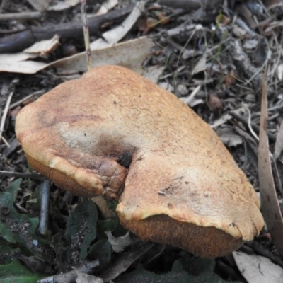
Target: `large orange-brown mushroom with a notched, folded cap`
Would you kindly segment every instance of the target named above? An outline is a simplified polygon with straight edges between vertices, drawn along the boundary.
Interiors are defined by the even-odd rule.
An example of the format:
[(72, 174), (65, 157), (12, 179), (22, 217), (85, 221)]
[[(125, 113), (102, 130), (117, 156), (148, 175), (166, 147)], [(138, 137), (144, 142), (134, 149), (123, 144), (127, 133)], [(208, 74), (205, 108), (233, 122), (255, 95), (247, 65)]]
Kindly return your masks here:
[(16, 134), (35, 171), (118, 200), (121, 224), (144, 241), (215, 258), (262, 229), (255, 190), (209, 125), (124, 67), (60, 84), (18, 113)]

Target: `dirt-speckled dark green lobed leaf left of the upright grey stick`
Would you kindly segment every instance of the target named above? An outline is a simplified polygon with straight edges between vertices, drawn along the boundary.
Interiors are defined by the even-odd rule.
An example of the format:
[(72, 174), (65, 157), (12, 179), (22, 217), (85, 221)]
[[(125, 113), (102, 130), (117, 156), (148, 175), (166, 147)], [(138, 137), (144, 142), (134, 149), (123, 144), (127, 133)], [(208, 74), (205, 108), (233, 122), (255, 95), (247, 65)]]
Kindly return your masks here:
[(35, 235), (37, 218), (19, 214), (13, 207), (13, 196), (0, 192), (0, 234), (6, 241), (21, 243), (33, 255), (41, 260), (52, 261), (52, 251), (42, 245), (42, 240)]

